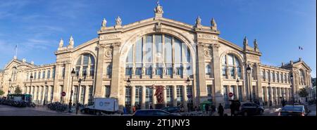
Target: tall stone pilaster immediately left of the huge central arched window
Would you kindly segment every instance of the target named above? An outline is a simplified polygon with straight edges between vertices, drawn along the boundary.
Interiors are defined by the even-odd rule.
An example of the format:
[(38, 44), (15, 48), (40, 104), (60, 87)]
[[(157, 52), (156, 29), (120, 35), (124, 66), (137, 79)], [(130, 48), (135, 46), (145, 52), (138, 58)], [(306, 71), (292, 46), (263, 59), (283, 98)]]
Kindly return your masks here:
[(120, 88), (120, 44), (113, 44), (111, 97), (119, 98)]

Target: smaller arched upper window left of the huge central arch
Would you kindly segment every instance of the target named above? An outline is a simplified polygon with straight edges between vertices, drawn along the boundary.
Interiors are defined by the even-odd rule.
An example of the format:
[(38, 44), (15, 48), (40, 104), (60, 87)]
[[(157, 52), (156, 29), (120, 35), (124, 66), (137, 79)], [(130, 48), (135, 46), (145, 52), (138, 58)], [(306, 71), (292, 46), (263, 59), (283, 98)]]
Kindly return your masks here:
[(83, 76), (85, 72), (87, 76), (94, 77), (94, 66), (95, 66), (94, 56), (92, 56), (89, 53), (84, 53), (80, 55), (75, 65), (75, 72), (77, 77)]

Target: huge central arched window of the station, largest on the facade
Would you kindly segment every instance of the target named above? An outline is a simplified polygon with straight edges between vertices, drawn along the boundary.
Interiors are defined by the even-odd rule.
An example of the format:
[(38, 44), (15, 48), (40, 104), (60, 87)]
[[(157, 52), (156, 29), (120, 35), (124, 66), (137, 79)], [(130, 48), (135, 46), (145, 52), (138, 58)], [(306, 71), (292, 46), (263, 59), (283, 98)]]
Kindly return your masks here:
[(185, 43), (167, 34), (148, 34), (137, 39), (128, 51), (125, 74), (183, 75), (185, 72), (192, 75), (191, 63), (190, 50)]

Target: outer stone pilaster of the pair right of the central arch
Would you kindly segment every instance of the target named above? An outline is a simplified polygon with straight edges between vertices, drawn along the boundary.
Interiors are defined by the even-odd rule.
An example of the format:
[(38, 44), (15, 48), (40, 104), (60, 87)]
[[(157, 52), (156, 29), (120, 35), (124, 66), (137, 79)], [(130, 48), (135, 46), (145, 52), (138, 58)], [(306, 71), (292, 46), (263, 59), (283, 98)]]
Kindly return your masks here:
[[(215, 96), (216, 104), (219, 104), (219, 103), (225, 104), (225, 101), (223, 100), (223, 93), (221, 93), (222, 86), (221, 86), (220, 77), (222, 77), (222, 75), (220, 74), (220, 60), (219, 60), (220, 58), (218, 53), (219, 44), (213, 44), (212, 49), (213, 49), (213, 77), (215, 77), (214, 85), (213, 85), (215, 86), (214, 96)], [(198, 51), (198, 52), (201, 52), (201, 51)]]

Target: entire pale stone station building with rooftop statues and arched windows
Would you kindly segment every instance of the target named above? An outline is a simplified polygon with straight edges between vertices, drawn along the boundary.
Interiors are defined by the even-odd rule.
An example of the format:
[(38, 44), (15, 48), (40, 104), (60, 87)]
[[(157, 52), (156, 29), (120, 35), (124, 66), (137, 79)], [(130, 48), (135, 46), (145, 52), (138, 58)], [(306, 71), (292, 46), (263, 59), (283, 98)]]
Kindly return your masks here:
[[(20, 86), (38, 104), (68, 103), (73, 89), (73, 103), (113, 97), (120, 109), (146, 109), (157, 103), (154, 84), (165, 88), (164, 105), (181, 104), (186, 110), (189, 103), (228, 105), (230, 99), (246, 101), (250, 96), (275, 105), (293, 96), (298, 100), (299, 89), (311, 86), (311, 69), (302, 59), (279, 67), (262, 65), (256, 41), (251, 47), (244, 38), (240, 47), (220, 38), (214, 19), (210, 26), (201, 25), (200, 18), (189, 25), (163, 18), (162, 6), (154, 13), (154, 18), (128, 25), (119, 17), (113, 27), (103, 20), (98, 37), (79, 46), (74, 46), (73, 37), (67, 46), (61, 39), (53, 64), (34, 65), (15, 57), (2, 72), (1, 89), (6, 96)], [(63, 91), (66, 96), (61, 96)]]

